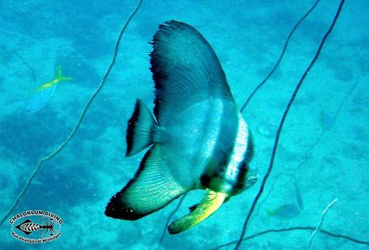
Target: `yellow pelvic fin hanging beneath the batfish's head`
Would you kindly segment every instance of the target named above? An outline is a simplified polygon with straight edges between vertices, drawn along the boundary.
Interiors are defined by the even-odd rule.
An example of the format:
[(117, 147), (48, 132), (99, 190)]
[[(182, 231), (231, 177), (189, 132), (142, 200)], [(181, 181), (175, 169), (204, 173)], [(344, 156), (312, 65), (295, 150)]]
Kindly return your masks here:
[(181, 233), (192, 228), (192, 226), (199, 224), (199, 222), (202, 222), (204, 219), (215, 213), (215, 211), (222, 206), (222, 203), (227, 196), (228, 195), (224, 192), (206, 190), (206, 194), (202, 199), (202, 202), (197, 204), (195, 209), (193, 209), (188, 215), (181, 217), (181, 219), (177, 219), (168, 226), (169, 233)]

